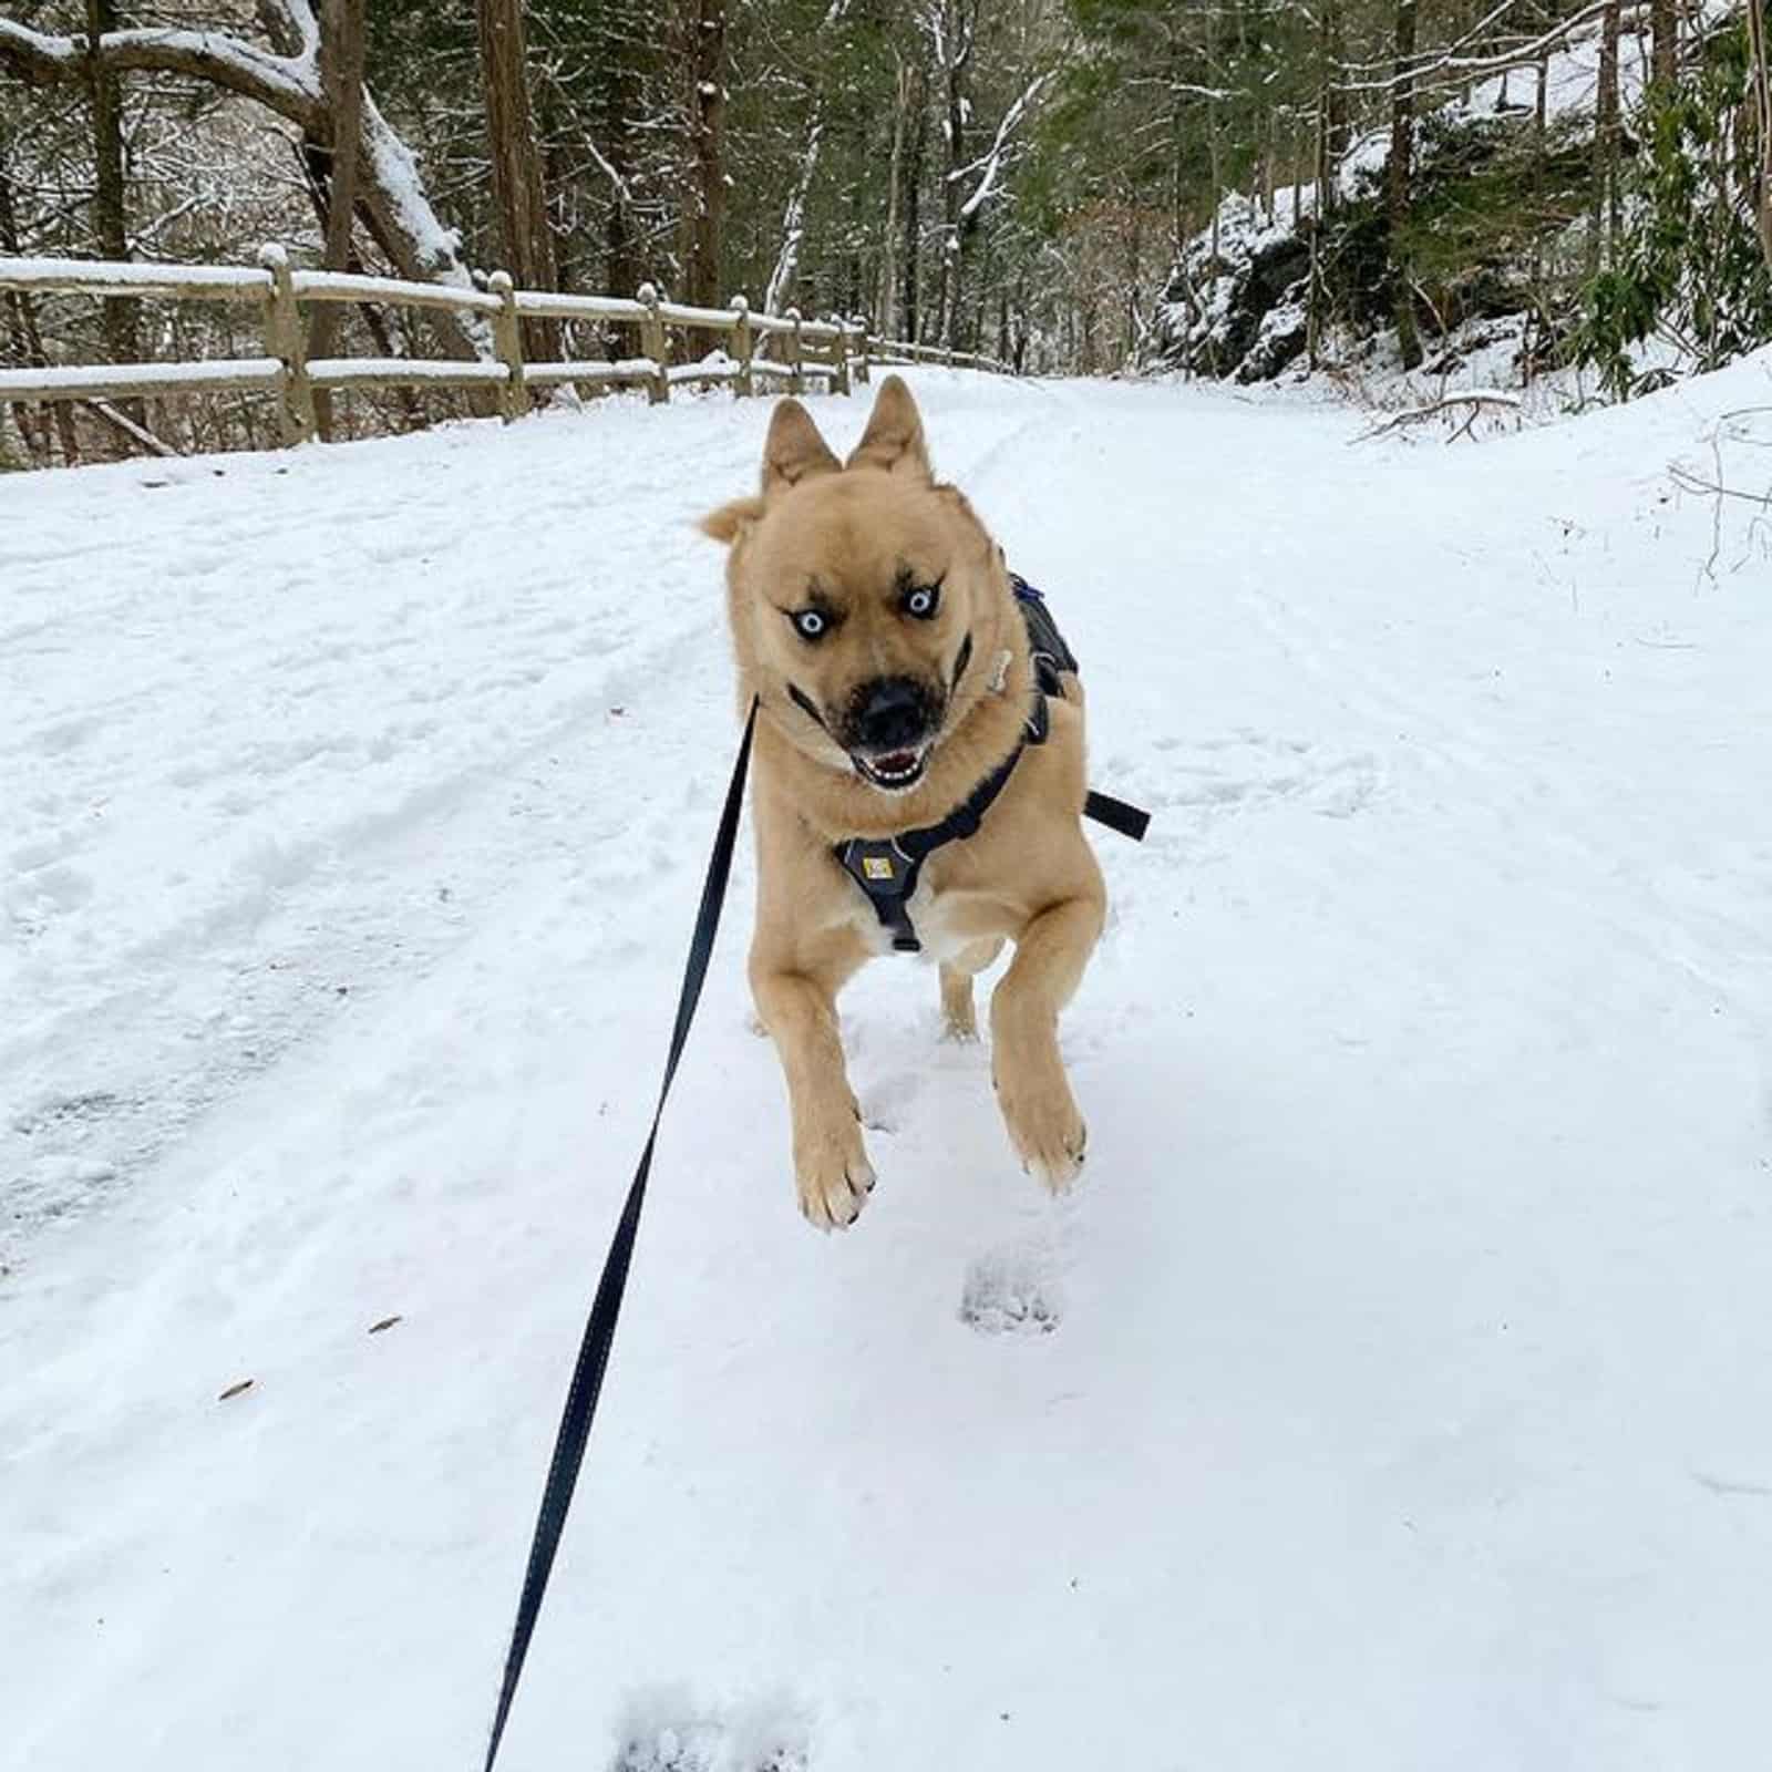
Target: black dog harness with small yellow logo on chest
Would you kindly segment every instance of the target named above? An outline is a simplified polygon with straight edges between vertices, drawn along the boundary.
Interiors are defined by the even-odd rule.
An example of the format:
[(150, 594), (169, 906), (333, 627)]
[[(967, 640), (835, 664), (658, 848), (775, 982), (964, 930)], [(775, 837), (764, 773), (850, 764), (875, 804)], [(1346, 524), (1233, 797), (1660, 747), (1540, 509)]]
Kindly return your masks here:
[[(1028, 711), (1028, 723), (1015, 741), (1015, 750), (939, 824), (925, 824), (916, 831), (900, 831), (897, 836), (884, 838), (851, 836), (849, 842), (836, 843), (831, 851), (843, 872), (868, 895), (874, 913), (891, 930), (891, 944), (898, 953), (920, 953), (923, 948), (916, 939), (909, 911), (923, 863), (943, 845), (976, 835), (998, 794), (1008, 787), (1008, 778), (1015, 773), (1021, 753), (1030, 744), (1044, 744), (1053, 730), (1051, 709), (1045, 705), (1047, 696), (1056, 695), (1063, 700), (1065, 675), (1077, 673), (1076, 654), (1065, 645), (1065, 636), (1058, 631), (1058, 622), (1053, 620), (1045, 597), (1014, 572), (1010, 572), (1008, 581), (1021, 617), (1028, 624), (1028, 650), (1033, 657), (1033, 707)], [(1143, 842), (1145, 829), (1150, 826), (1148, 812), (1139, 812), (1138, 806), (1129, 806), (1123, 799), (1093, 790), (1083, 803), (1083, 813), (1134, 842)]]

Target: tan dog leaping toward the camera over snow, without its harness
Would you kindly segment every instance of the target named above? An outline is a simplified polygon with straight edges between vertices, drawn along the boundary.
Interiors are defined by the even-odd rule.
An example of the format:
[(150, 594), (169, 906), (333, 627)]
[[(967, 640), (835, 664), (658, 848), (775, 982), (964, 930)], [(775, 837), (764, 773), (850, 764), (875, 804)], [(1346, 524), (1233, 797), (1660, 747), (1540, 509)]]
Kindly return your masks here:
[[(728, 542), (739, 700), (758, 702), (751, 991), (794, 1115), (799, 1203), (849, 1224), (874, 1187), (843, 1070), (836, 992), (891, 932), (833, 845), (937, 824), (1022, 742), (1035, 702), (1028, 631), (1001, 549), (939, 486), (911, 390), (890, 376), (847, 466), (797, 400), (764, 445), (762, 496), (705, 519)], [(973, 975), (1003, 941), (991, 998), (992, 1081), (1010, 1143), (1049, 1187), (1083, 1164), (1083, 1116), (1058, 1056), (1058, 1012), (1102, 929), (1083, 838), (1083, 695), (1049, 700), (978, 831), (929, 856), (909, 913), (941, 960), (941, 1006), (976, 1035)]]

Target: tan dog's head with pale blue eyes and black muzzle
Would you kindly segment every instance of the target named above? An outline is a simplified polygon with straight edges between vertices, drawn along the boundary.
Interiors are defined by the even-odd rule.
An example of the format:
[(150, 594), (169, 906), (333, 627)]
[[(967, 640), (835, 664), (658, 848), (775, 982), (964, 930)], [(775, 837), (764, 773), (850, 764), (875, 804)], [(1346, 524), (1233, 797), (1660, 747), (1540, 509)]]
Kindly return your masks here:
[(712, 512), (728, 542), (744, 688), (808, 757), (881, 792), (913, 789), (980, 693), (1001, 645), (1001, 558), (952, 486), (937, 486), (911, 390), (888, 376), (838, 462), (797, 400), (764, 445), (762, 494)]

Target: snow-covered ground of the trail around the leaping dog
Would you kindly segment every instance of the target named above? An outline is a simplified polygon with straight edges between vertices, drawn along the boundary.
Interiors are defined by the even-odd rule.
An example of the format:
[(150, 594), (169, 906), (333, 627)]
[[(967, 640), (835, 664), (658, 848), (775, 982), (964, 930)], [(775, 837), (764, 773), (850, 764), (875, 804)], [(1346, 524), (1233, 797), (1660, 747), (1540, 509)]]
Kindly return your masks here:
[[(505, 1763), (1756, 1763), (1772, 560), (1667, 464), (1767, 358), (1457, 448), (914, 379), (1157, 815), (1086, 1184), (881, 964), (881, 1185), (808, 1230), (741, 870)], [(766, 416), (0, 482), (7, 1765), (475, 1763)]]

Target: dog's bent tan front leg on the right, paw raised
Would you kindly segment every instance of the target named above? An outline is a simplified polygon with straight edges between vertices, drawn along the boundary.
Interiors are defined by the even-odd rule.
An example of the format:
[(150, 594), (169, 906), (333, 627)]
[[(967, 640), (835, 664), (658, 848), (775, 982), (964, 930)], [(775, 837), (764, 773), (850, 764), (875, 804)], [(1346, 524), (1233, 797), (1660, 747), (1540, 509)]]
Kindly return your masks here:
[(1058, 1056), (1058, 1012), (1083, 978), (1102, 916), (1102, 900), (1088, 895), (1042, 911), (991, 998), (991, 1079), (1003, 1122), (1022, 1168), (1054, 1191), (1083, 1168), (1086, 1138)]

